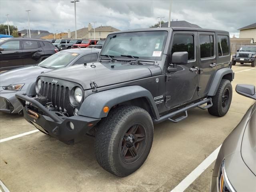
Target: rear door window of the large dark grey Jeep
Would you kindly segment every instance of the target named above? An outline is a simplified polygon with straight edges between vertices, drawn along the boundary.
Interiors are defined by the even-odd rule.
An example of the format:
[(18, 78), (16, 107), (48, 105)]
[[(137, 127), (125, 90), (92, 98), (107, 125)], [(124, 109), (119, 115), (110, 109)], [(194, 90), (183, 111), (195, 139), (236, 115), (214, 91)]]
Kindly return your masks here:
[(212, 35), (200, 35), (200, 58), (208, 58), (214, 56), (214, 42)]

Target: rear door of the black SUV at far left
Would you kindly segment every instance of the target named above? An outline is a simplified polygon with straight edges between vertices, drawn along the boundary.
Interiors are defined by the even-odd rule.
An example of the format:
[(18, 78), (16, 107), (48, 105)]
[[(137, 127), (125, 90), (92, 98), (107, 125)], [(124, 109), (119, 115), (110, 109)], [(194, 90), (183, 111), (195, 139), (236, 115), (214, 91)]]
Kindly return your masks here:
[(22, 40), (23, 65), (33, 65), (41, 61), (44, 50), (36, 40)]

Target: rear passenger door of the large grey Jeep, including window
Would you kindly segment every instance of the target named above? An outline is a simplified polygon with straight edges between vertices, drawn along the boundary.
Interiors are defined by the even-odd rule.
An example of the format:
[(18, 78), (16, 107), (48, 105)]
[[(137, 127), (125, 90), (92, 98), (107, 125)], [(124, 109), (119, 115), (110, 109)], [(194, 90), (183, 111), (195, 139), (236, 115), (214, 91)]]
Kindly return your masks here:
[(198, 96), (206, 96), (216, 72), (216, 40), (214, 32), (198, 32), (199, 78)]

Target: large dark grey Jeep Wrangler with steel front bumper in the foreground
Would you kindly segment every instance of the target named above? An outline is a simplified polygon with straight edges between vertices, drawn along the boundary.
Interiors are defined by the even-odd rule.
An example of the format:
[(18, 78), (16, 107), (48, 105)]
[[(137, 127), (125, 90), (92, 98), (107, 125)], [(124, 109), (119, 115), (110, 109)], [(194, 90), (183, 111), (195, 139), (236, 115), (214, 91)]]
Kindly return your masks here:
[(195, 107), (228, 112), (230, 64), (226, 31), (120, 31), (108, 35), (97, 62), (42, 74), (34, 98), (16, 97), (40, 131), (67, 143), (94, 135), (100, 166), (128, 176), (150, 152), (153, 124), (180, 122)]

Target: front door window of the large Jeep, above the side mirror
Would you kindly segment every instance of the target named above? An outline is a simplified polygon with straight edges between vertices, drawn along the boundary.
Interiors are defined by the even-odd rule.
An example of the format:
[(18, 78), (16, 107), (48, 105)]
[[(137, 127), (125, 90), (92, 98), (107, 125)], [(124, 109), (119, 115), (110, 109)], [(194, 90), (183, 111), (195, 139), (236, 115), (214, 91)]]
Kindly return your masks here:
[(195, 59), (195, 46), (194, 46), (194, 36), (193, 35), (174, 35), (174, 40), (172, 43), (172, 54), (174, 52), (188, 52), (188, 60)]

